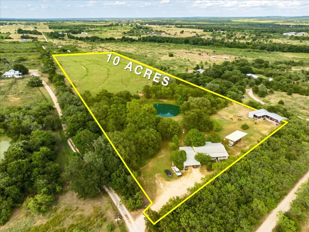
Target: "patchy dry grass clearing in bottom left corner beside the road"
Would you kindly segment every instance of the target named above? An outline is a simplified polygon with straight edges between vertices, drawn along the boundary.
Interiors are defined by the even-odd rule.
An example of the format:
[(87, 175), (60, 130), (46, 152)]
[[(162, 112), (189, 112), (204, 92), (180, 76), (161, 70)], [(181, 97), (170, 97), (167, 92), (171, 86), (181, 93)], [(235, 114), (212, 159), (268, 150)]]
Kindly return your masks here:
[[(65, 187), (63, 193), (57, 196), (55, 208), (44, 215), (31, 215), (23, 207), (15, 208), (10, 220), (1, 228), (3, 232), (16, 231), (107, 231), (106, 225), (112, 223), (117, 229), (115, 221), (116, 206), (107, 193), (101, 192), (94, 199), (77, 199), (75, 193)], [(98, 212), (103, 213), (106, 221), (101, 226), (95, 224)], [(125, 232), (124, 221), (119, 222), (121, 232)]]

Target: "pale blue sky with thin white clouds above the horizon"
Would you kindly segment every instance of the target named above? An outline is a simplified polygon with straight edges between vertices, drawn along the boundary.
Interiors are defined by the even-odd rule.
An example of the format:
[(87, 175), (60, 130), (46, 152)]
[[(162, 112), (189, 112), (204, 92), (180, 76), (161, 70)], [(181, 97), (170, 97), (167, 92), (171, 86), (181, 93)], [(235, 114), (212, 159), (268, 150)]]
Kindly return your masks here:
[(308, 16), (308, 0), (1, 0), (1, 18)]

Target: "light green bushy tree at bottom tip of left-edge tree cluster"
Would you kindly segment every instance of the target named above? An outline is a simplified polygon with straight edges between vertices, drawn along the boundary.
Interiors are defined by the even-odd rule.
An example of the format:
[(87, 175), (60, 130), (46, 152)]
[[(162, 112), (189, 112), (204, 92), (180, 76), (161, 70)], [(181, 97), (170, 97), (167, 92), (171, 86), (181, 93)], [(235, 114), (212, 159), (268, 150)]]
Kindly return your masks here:
[(34, 197), (27, 198), (23, 206), (32, 214), (42, 214), (47, 211), (48, 205), (54, 201), (54, 197), (46, 194), (37, 194)]

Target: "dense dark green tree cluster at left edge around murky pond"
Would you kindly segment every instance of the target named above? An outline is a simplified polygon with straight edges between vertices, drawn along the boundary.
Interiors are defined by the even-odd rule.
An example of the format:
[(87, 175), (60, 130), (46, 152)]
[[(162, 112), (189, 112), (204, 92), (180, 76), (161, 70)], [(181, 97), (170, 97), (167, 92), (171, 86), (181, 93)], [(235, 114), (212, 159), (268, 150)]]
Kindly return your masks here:
[[(25, 197), (25, 207), (39, 214), (61, 191), (60, 166), (55, 162), (56, 139), (52, 131), (46, 130), (51, 128), (51, 109), (47, 103), (1, 107), (1, 132), (11, 138), (11, 145), (0, 166), (0, 225)], [(57, 126), (57, 122), (52, 123)]]

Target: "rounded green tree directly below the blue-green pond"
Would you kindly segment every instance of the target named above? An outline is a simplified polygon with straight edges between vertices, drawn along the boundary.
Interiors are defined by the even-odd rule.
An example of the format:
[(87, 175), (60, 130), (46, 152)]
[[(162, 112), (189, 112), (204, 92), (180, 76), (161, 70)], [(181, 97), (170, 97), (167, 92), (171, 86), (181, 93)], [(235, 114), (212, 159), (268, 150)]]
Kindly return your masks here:
[(180, 126), (178, 122), (171, 118), (162, 118), (157, 125), (157, 130), (159, 131), (163, 140), (170, 139), (174, 135), (178, 135), (180, 132)]

